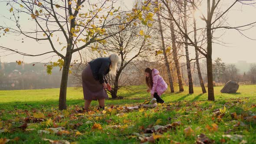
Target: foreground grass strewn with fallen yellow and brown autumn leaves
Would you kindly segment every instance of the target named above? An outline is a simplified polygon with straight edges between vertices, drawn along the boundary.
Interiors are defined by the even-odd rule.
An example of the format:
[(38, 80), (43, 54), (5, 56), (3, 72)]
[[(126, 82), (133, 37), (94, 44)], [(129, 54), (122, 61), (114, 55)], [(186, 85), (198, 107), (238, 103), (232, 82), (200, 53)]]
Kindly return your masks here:
[[(8, 111), (12, 118), (0, 120), (0, 134), (10, 138), (26, 131), (30, 137), (30, 133), (37, 131), (55, 137), (55, 140), (42, 139), (52, 144), (68, 144), (77, 141), (78, 137), (85, 138), (92, 134), (108, 134), (123, 141), (135, 140), (141, 143), (169, 141), (178, 144), (179, 141), (196, 141), (197, 144), (212, 144), (214, 141), (246, 141), (241, 131), (251, 131), (252, 126), (255, 128), (254, 105), (243, 106), (246, 102), (241, 98), (224, 105), (205, 103), (178, 101), (158, 105), (157, 108), (133, 110), (125, 108), (127, 105), (111, 105), (104, 111), (97, 111), (95, 107), (93, 111), (87, 112), (77, 105), (65, 111), (54, 108), (16, 110), (22, 116), (17, 115), (16, 111)], [(235, 107), (242, 107), (242, 110), (236, 111)], [(177, 133), (182, 135), (173, 137)], [(213, 137), (215, 134), (219, 139)], [(11, 140), (2, 138), (0, 141), (4, 144)], [(24, 138), (20, 141), (24, 141)]]

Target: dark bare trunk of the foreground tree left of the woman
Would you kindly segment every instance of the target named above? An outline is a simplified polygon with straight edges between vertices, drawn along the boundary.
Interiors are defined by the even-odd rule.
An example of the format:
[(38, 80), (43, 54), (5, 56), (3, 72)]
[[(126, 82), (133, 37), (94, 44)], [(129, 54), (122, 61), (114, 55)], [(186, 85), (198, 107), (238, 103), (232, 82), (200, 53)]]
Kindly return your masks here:
[(59, 90), (59, 110), (64, 110), (67, 108), (66, 106), (66, 95), (67, 95), (67, 85), (68, 85), (68, 77), (69, 77), (69, 66), (71, 62), (71, 53), (67, 53), (64, 59), (64, 65), (62, 68), (62, 77), (60, 83)]

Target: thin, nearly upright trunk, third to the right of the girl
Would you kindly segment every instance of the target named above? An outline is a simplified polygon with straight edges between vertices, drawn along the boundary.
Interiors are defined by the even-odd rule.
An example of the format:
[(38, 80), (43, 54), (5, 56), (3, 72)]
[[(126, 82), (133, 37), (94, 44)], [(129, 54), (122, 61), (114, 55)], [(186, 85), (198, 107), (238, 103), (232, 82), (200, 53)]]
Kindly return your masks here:
[[(184, 0), (184, 32), (187, 35), (187, 0)], [(187, 44), (187, 37), (185, 36), (185, 49), (186, 49), (186, 60), (187, 60), (187, 77), (188, 77), (188, 88), (189, 93), (193, 94), (193, 81), (192, 81), (192, 74), (190, 69), (190, 59), (189, 59), (189, 53), (188, 53), (188, 44)]]

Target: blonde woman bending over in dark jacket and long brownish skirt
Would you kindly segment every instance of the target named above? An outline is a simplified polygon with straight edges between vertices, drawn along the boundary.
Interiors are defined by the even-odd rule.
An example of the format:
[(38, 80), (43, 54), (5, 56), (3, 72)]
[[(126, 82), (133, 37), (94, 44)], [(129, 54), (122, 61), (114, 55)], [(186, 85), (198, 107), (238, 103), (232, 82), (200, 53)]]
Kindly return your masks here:
[(98, 109), (104, 109), (105, 98), (108, 98), (105, 89), (111, 90), (105, 75), (108, 72), (115, 76), (119, 57), (111, 54), (105, 58), (97, 58), (89, 62), (82, 72), (82, 86), (85, 99), (85, 110), (88, 110), (92, 100), (98, 100)]

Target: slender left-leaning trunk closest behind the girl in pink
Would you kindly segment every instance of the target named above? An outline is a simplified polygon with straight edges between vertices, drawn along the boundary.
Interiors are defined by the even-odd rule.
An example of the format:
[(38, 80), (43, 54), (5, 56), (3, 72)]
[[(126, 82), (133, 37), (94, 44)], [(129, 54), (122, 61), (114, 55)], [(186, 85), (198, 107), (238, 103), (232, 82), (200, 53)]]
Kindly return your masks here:
[(159, 31), (160, 31), (160, 35), (161, 35), (161, 43), (162, 43), (162, 49), (163, 49), (163, 54), (164, 54), (164, 62), (165, 62), (165, 65), (166, 65), (166, 69), (167, 69), (167, 73), (168, 73), (168, 79), (169, 79), (169, 83), (170, 83), (170, 89), (171, 89), (171, 92), (174, 92), (170, 65), (169, 65), (167, 55), (166, 55), (166, 52), (165, 52), (164, 35), (163, 35), (163, 29), (162, 29), (162, 25), (161, 25), (159, 12), (158, 12), (158, 24), (159, 24)]

